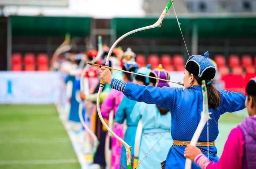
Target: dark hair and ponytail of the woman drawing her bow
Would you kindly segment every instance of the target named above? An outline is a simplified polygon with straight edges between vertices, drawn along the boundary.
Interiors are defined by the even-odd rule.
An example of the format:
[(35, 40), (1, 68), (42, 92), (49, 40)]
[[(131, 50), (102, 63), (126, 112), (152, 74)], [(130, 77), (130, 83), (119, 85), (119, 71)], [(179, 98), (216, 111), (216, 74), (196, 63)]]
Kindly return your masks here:
[[(199, 85), (202, 85), (203, 80), (205, 80), (206, 84), (210, 82), (210, 80), (208, 79), (203, 79), (195, 75), (194, 75), (194, 78), (196, 79)], [(219, 104), (221, 103), (221, 96), (219, 91), (211, 83), (207, 84), (206, 88), (207, 88), (209, 107), (213, 109), (217, 109), (219, 107)]]

